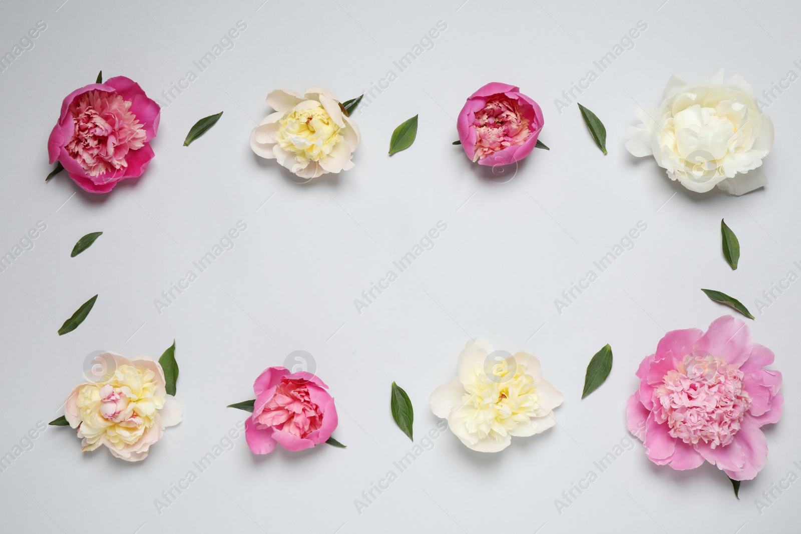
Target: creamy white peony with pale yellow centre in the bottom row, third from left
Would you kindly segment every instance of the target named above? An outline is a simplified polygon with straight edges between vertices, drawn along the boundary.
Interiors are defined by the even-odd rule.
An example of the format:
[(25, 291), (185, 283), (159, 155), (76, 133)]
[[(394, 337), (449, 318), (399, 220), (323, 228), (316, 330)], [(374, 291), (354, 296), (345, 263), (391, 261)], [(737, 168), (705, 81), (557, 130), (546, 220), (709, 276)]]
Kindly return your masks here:
[(533, 436), (553, 427), (562, 395), (542, 379), (528, 352), (493, 351), (487, 339), (471, 339), (459, 355), (459, 375), (431, 394), (431, 411), (448, 419), (461, 442), (479, 452), (509, 447), (512, 436)]

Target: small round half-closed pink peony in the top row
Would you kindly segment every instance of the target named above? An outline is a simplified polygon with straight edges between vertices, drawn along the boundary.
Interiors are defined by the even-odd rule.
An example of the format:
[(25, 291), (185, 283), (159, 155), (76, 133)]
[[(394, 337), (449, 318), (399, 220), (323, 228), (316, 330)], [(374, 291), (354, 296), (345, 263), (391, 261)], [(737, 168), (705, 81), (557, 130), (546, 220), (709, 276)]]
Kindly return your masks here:
[(508, 165), (525, 158), (545, 124), (537, 102), (505, 83), (488, 83), (461, 108), (461, 147), (479, 165)]

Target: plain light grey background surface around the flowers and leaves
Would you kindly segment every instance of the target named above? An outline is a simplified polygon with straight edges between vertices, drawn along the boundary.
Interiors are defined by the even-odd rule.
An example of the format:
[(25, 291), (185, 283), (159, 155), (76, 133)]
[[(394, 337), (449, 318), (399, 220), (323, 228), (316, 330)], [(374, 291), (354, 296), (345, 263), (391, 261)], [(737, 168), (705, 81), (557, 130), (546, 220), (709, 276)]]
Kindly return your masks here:
[[(798, 282), (748, 323), (775, 351), (787, 402), (783, 420), (766, 428), (767, 465), (743, 483), (741, 500), (716, 468), (658, 467), (641, 444), (605, 472), (594, 466), (628, 443), (634, 371), (665, 330), (706, 328), (730, 313), (700, 287), (756, 312), (763, 291), (801, 272), (793, 263), (801, 260), (801, 82), (767, 110), (776, 141), (763, 190), (690, 193), (623, 147), (634, 101), (658, 105), (674, 72), (701, 80), (724, 66), (758, 92), (788, 70), (801, 74), (795, 2), (262, 1), (3, 2), (2, 54), (36, 22), (47, 27), (0, 74), (0, 254), (38, 221), (46, 231), (0, 274), (0, 455), (61, 414), (91, 351), (158, 357), (175, 339), (185, 408), (183, 423), (139, 464), (104, 449), (82, 453), (70, 429), (48, 428), (0, 474), (4, 532), (798, 531), (801, 482), (775, 492), (761, 514), (755, 503), (791, 470), (801, 474), (793, 464), (801, 460)], [(141, 179), (107, 195), (85, 193), (66, 175), (44, 182), (46, 141), (66, 94), (102, 69), (167, 103), (162, 91), (187, 70), (198, 74), (193, 61), (240, 20), (247, 29), (233, 49), (174, 91)], [(447, 29), (433, 48), (400, 72), (393, 61), (438, 21)], [(604, 156), (577, 106), (560, 114), (554, 99), (598, 73), (593, 61), (638, 21), (647, 29), (634, 46), (581, 95), (606, 124)], [(248, 135), (268, 114), (268, 91), (320, 85), (345, 100), (388, 70), (397, 78), (356, 113), (362, 144), (352, 171), (297, 184), (252, 154)], [(465, 98), (493, 81), (541, 103), (540, 139), (551, 150), (487, 175), (450, 143)], [(198, 118), (220, 110), (212, 130), (181, 146)], [(414, 114), (417, 141), (388, 157), (392, 129)], [(720, 251), (723, 217), (742, 245), (737, 271)], [(240, 220), (248, 228), (235, 247), (159, 314), (154, 299), (197, 274), (192, 261)], [(433, 249), (359, 314), (353, 300), (438, 221), (448, 227)], [(634, 248), (558, 313), (554, 299), (638, 221), (647, 230)], [(70, 259), (91, 231), (104, 234)], [(95, 293), (88, 319), (56, 335)], [(456, 374), (457, 355), (477, 335), (541, 359), (566, 395), (560, 426), (493, 455), (439, 436), (359, 514), (354, 500), (397, 472), (392, 462), (413, 447), (392, 422), (390, 383), (409, 392), (423, 436), (437, 424), (429, 393)], [(582, 401), (586, 363), (605, 343), (614, 368)], [(335, 436), (348, 448), (257, 457), (239, 437), (159, 515), (154, 500), (246, 415), (225, 405), (252, 398), (256, 375), (296, 349), (314, 355), (339, 407)], [(598, 480), (557, 512), (554, 500), (590, 470)]]

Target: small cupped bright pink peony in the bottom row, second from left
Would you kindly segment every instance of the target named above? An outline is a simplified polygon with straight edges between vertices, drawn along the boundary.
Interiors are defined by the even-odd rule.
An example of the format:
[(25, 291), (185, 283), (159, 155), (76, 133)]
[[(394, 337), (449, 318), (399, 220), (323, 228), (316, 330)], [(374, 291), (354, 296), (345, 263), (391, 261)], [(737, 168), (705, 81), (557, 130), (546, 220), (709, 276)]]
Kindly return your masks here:
[(268, 454), (280, 443), (302, 451), (324, 443), (339, 420), (334, 399), (322, 380), (307, 372), (270, 367), (256, 382), (256, 405), (245, 420), (245, 439), (256, 454)]

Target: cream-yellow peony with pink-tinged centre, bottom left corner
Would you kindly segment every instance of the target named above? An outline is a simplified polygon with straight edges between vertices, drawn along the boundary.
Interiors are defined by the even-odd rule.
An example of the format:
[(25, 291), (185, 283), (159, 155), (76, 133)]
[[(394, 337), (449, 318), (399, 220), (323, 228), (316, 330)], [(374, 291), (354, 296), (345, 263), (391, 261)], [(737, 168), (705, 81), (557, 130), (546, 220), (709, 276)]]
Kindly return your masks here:
[(106, 445), (118, 458), (143, 460), (163, 429), (181, 422), (183, 408), (167, 395), (159, 362), (147, 356), (129, 360), (114, 352), (99, 358), (115, 365), (99, 382), (70, 391), (64, 417), (83, 438), (83, 451)]

